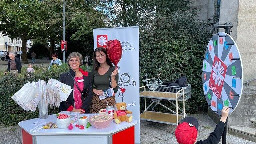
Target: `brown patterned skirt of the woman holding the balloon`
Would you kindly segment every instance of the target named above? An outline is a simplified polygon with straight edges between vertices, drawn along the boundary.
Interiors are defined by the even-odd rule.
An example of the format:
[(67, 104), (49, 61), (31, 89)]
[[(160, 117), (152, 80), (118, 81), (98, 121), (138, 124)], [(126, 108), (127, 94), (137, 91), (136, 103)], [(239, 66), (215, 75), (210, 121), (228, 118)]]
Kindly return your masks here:
[(115, 96), (111, 96), (103, 100), (100, 100), (98, 95), (93, 94), (92, 102), (90, 106), (90, 113), (99, 113), (100, 109), (106, 109), (107, 104), (109, 106), (115, 106), (116, 104)]

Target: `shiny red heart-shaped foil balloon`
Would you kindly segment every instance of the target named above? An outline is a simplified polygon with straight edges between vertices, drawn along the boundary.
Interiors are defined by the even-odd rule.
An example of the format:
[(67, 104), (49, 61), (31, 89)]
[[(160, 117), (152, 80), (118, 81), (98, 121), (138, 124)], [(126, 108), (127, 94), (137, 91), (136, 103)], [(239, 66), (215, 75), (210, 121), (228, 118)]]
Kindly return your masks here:
[(123, 52), (122, 45), (121, 45), (120, 41), (117, 39), (108, 41), (106, 51), (107, 51), (110, 61), (116, 67), (118, 67), (117, 64), (120, 61), (120, 59), (122, 58), (122, 52)]

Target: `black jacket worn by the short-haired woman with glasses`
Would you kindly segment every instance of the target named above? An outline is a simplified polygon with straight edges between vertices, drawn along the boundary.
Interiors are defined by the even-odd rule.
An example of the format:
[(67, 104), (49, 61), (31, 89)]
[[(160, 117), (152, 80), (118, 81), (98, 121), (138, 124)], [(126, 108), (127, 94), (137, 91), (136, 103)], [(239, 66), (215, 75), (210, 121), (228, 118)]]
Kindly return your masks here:
[[(71, 76), (74, 78), (75, 77), (75, 72), (72, 71), (70, 69), (69, 71), (71, 73)], [(84, 88), (83, 88), (83, 93), (84, 93), (84, 97), (81, 96), (82, 99), (82, 107), (81, 109), (85, 110), (85, 113), (89, 113), (89, 107), (91, 105), (91, 100), (92, 100), (92, 82), (90, 77), (86, 77), (83, 75), (84, 78)], [(60, 75), (59, 77), (59, 81), (71, 86), (71, 88), (74, 90), (74, 81), (73, 79), (70, 77), (69, 73), (63, 73)], [(68, 99), (66, 101), (62, 101), (60, 103), (60, 107), (59, 107), (59, 111), (66, 111), (70, 106), (75, 107), (74, 104), (74, 94), (73, 94), (73, 90), (70, 93), (70, 95), (68, 96)]]

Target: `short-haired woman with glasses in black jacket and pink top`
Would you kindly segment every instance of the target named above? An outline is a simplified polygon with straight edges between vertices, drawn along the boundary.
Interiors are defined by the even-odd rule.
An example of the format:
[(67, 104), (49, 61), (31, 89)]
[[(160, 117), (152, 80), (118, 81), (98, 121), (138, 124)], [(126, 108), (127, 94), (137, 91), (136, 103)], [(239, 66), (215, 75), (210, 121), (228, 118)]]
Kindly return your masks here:
[(92, 83), (90, 77), (88, 77), (88, 72), (80, 68), (83, 64), (82, 55), (78, 52), (72, 52), (68, 56), (67, 64), (70, 70), (61, 74), (59, 81), (71, 86), (73, 91), (66, 101), (60, 103), (59, 111), (89, 113), (92, 99)]

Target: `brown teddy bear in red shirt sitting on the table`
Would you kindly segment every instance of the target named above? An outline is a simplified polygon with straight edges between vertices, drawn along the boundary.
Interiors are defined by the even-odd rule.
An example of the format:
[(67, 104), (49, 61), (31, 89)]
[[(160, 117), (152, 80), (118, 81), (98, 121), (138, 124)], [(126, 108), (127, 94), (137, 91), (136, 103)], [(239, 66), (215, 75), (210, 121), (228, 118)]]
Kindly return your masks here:
[(126, 109), (126, 103), (116, 103), (117, 111), (114, 113), (115, 123), (120, 124), (122, 121), (131, 122), (132, 116), (127, 116), (127, 114), (132, 114), (131, 111)]

